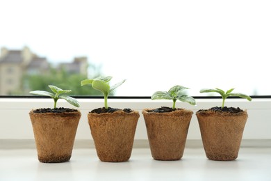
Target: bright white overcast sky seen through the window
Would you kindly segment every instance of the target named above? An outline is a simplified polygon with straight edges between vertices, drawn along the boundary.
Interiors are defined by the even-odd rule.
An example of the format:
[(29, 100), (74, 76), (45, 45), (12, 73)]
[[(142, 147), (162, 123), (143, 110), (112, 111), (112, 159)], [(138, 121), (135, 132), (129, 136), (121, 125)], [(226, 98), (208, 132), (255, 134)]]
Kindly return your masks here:
[(270, 95), (269, 0), (0, 0), (0, 47), (25, 45), (49, 61), (88, 56), (117, 95), (177, 84)]

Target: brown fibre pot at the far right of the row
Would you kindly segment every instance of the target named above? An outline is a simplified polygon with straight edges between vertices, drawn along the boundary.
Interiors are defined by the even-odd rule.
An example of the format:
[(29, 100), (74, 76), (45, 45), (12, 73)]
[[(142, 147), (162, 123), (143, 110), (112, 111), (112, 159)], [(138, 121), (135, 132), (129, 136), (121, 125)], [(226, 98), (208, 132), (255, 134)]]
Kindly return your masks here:
[(247, 111), (197, 111), (196, 116), (206, 157), (218, 161), (236, 159), (247, 122)]

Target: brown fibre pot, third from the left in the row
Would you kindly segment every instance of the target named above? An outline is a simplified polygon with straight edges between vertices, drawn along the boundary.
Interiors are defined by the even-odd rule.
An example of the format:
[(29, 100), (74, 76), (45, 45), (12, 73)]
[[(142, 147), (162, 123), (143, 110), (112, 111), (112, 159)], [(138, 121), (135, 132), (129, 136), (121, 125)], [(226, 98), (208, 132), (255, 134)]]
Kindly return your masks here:
[(186, 137), (193, 112), (179, 109), (167, 113), (144, 109), (151, 156), (157, 160), (179, 160), (183, 157)]

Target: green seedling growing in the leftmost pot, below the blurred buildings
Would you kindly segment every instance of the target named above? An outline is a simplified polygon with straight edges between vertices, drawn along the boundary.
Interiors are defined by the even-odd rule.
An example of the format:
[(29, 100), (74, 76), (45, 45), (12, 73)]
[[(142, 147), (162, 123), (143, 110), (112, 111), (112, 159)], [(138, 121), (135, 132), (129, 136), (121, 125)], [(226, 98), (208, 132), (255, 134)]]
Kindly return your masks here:
[(74, 99), (73, 97), (67, 96), (67, 95), (60, 95), (63, 93), (70, 93), (72, 92), (71, 90), (63, 90), (61, 88), (58, 88), (57, 86), (51, 86), (49, 85), (49, 88), (51, 88), (51, 91), (53, 91), (54, 93), (49, 93), (47, 91), (31, 91), (29, 93), (34, 94), (34, 95), (45, 95), (45, 96), (49, 96), (51, 98), (54, 99), (54, 109), (56, 108), (56, 102), (58, 102), (58, 99), (64, 99), (67, 102), (69, 102), (69, 104), (74, 105), (74, 107), (80, 107), (79, 102)]

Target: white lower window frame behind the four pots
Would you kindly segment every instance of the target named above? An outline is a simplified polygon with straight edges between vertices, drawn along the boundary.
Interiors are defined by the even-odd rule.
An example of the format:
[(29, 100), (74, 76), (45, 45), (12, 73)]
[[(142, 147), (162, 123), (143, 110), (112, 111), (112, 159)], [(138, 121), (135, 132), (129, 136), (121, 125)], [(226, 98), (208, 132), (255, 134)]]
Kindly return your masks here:
[[(176, 107), (192, 109), (194, 114), (190, 123), (188, 139), (201, 139), (199, 125), (195, 112), (199, 109), (208, 109), (210, 107), (220, 106), (220, 99), (198, 99), (197, 106), (191, 106), (188, 103), (176, 102)], [(104, 100), (100, 99), (79, 99), (81, 107), (79, 108), (82, 117), (76, 133), (76, 139), (92, 139), (90, 128), (88, 126), (87, 114), (92, 109), (103, 107)], [(0, 99), (0, 139), (34, 139), (31, 121), (28, 112), (31, 109), (42, 107), (53, 107), (51, 99)], [(142, 109), (156, 108), (161, 106), (172, 106), (170, 101), (145, 100), (145, 99), (109, 99), (108, 105), (115, 108), (131, 108), (140, 112), (138, 127), (136, 129), (135, 139), (147, 139), (147, 132)], [(227, 107), (240, 107), (247, 109), (249, 118), (245, 127), (243, 139), (271, 139), (271, 100), (254, 99), (248, 102), (245, 99), (228, 99)], [(71, 107), (63, 100), (58, 101), (58, 107)]]

